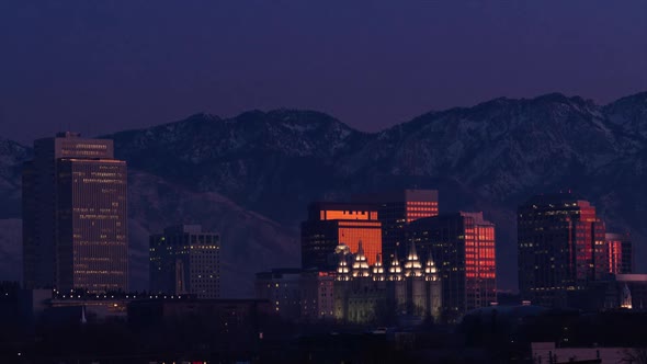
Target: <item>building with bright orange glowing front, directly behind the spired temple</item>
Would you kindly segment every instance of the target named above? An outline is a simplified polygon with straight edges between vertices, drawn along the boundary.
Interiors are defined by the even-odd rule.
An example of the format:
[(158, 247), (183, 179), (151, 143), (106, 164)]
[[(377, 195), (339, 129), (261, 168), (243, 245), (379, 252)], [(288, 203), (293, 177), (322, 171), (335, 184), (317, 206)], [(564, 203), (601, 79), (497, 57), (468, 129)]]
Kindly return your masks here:
[(377, 207), (357, 203), (313, 203), (308, 219), (302, 223), (302, 266), (333, 271), (334, 249), (345, 244), (356, 253), (363, 242), (368, 264), (382, 254), (382, 223)]

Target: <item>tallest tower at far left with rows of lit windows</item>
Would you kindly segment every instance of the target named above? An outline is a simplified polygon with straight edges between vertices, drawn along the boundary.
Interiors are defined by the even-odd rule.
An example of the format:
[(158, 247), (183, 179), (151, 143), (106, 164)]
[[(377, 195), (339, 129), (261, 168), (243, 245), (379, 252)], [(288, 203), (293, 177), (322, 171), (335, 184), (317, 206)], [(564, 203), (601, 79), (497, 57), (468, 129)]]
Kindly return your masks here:
[(128, 288), (126, 162), (112, 140), (36, 140), (22, 191), (25, 287)]

